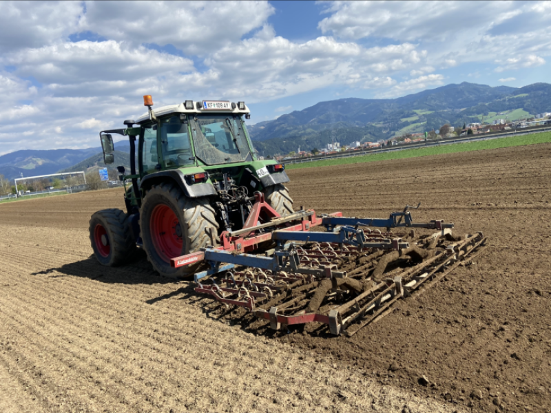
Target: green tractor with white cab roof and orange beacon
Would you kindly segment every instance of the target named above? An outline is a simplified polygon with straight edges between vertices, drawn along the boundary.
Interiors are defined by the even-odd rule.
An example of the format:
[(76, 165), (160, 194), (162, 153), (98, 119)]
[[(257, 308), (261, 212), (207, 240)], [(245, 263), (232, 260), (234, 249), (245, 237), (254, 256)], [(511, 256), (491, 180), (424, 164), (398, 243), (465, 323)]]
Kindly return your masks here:
[(114, 163), (112, 134), (130, 143), (130, 173), (117, 167), (126, 212), (105, 209), (90, 220), (101, 264), (124, 264), (140, 246), (160, 275), (186, 277), (198, 266), (173, 268), (170, 259), (218, 246), (222, 233), (242, 229), (255, 194), (279, 215), (293, 213), (284, 165), (257, 156), (244, 102), (186, 100), (153, 110), (151, 96), (144, 96), (144, 105), (148, 112), (125, 120), (125, 129), (100, 132), (106, 165)]

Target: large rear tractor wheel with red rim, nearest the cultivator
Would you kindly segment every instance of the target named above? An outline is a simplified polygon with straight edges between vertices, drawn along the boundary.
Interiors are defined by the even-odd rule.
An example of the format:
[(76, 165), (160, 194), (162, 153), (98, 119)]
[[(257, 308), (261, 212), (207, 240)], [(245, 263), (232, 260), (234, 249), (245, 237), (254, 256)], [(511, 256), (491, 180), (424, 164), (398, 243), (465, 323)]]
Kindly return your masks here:
[(154, 185), (140, 211), (147, 260), (165, 277), (193, 275), (199, 264), (172, 268), (170, 259), (218, 245), (218, 223), (207, 198), (187, 198), (174, 184)]

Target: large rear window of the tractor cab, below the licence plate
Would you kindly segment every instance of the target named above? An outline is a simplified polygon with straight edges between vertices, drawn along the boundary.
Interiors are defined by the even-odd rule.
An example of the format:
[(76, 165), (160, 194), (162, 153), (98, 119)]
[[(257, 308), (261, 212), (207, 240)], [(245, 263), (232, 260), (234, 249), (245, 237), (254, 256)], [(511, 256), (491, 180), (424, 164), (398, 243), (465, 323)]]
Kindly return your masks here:
[(195, 156), (206, 165), (252, 160), (239, 116), (198, 115), (189, 123)]

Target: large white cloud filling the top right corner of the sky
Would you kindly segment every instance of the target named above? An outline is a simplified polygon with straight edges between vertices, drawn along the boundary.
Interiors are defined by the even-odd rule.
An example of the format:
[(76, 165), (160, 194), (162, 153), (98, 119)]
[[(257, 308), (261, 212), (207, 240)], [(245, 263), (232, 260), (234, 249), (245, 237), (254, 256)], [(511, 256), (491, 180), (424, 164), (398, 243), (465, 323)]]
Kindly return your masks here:
[[(318, 28), (338, 39), (419, 43), (428, 63), (453, 67), (503, 55), (551, 54), (548, 2), (333, 1)], [(476, 10), (473, 12), (473, 10)], [(468, 22), (468, 23), (461, 23)]]

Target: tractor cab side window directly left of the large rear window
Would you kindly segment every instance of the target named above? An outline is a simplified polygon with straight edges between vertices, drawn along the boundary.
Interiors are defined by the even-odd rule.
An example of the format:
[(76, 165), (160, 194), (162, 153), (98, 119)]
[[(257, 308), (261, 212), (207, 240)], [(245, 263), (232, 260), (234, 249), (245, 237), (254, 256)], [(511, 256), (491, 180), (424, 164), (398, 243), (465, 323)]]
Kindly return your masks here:
[(180, 116), (171, 116), (160, 121), (160, 147), (163, 153), (163, 169), (194, 165), (187, 123)]

